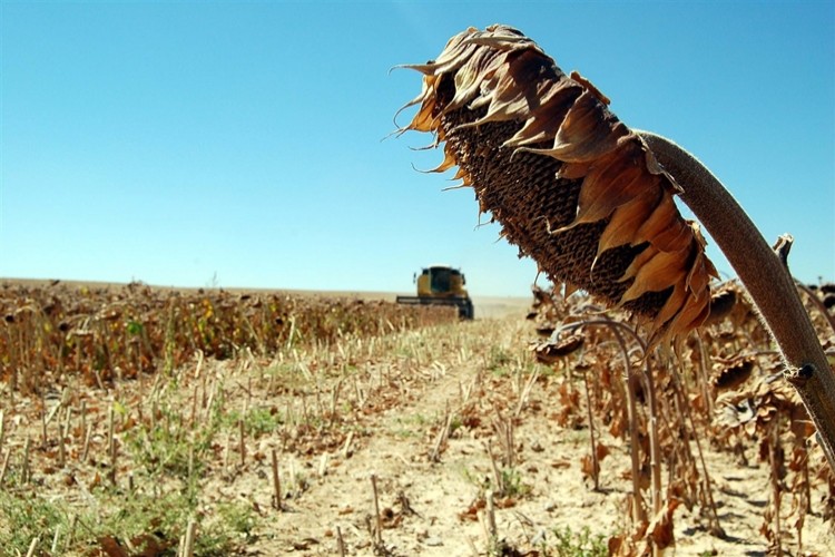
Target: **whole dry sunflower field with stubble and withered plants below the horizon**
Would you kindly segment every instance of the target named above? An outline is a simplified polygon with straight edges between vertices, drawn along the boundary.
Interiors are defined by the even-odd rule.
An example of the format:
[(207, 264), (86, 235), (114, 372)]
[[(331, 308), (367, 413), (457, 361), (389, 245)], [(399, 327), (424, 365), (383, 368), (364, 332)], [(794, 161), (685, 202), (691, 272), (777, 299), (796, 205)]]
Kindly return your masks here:
[[(475, 300), (477, 320), (458, 322), (385, 297), (4, 284), (0, 546), (698, 556), (835, 545), (832, 478), (741, 302), (678, 360), (654, 356), (641, 392), (625, 381), (641, 373), (639, 346), (621, 354), (584, 301), (540, 297), (528, 320), (532, 299)], [(728, 388), (717, 378), (736, 358), (753, 363)]]

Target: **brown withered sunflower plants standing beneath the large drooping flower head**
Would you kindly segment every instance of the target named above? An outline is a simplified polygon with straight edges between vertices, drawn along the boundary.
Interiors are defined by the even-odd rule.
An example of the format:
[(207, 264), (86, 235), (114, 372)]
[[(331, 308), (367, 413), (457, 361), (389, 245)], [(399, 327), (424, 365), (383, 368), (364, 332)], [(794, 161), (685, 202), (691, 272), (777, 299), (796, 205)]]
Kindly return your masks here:
[[(803, 290), (824, 346), (833, 353), (835, 285)], [(733, 455), (740, 466), (755, 458), (768, 468), (760, 532), (770, 553), (802, 554), (807, 515), (835, 517), (835, 476), (741, 286), (724, 284), (713, 296), (706, 325), (677, 351), (647, 352), (639, 326), (600, 310), (587, 297), (534, 289), (529, 319), (539, 336), (531, 345), (536, 359), (574, 378), (561, 389), (560, 418), (562, 426), (588, 422), (583, 471), (595, 489), (601, 488), (608, 455), (599, 441), (601, 429), (629, 447), (632, 531), (612, 539), (612, 554), (672, 545), (674, 511), (681, 505), (698, 508), (711, 532), (725, 537), (704, 458), (708, 446)], [(794, 547), (787, 547), (790, 530)]]

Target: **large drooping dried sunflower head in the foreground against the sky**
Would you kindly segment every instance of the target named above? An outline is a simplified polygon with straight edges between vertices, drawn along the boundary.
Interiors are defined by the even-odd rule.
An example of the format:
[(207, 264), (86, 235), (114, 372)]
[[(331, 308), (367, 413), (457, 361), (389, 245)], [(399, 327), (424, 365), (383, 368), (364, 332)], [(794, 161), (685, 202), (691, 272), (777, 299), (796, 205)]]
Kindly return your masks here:
[(423, 74), (405, 130), (444, 145), (443, 172), (475, 190), (482, 212), (554, 284), (583, 289), (648, 319), (650, 341), (698, 326), (716, 271), (680, 192), (609, 99), (567, 76), (520, 31), (470, 28)]

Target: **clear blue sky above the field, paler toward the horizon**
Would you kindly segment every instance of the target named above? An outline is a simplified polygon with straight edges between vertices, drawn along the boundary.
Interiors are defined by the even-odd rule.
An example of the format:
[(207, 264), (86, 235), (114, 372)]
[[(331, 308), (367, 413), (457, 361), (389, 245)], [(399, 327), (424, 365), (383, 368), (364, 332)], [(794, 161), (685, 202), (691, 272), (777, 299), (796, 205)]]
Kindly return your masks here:
[(0, 277), (402, 292), (445, 262), (527, 296), (536, 265), (472, 190), (413, 169), (440, 163), (414, 150), (431, 138), (383, 139), (421, 87), (390, 68), (502, 22), (833, 280), (834, 6), (2, 1)]

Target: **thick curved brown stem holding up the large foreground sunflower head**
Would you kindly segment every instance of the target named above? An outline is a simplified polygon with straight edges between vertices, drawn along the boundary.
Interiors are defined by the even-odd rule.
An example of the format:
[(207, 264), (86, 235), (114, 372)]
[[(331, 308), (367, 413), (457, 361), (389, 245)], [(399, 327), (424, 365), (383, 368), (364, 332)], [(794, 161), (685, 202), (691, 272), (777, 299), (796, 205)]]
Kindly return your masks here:
[(695, 156), (666, 137), (636, 133), (658, 163), (684, 188), (692, 211), (730, 262), (779, 346), (784, 377), (797, 390), (817, 427), (817, 438), (835, 470), (835, 372), (779, 256), (745, 211)]

